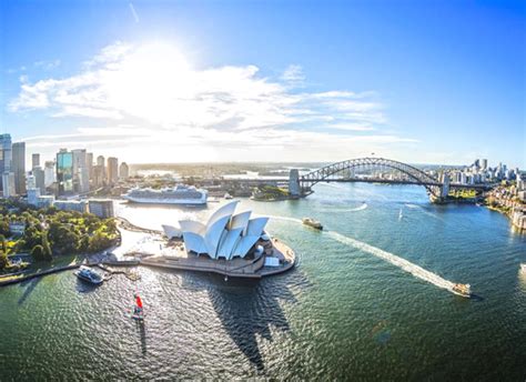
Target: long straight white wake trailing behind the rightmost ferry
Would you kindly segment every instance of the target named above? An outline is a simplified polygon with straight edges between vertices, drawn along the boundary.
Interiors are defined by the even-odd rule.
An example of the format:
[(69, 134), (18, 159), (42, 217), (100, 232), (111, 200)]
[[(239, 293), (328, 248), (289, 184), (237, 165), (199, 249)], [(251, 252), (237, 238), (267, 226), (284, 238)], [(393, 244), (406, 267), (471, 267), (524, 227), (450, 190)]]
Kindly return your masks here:
[(384, 250), (381, 250), (380, 248), (370, 245), (367, 243), (364, 243), (362, 241), (345, 237), (341, 233), (337, 232), (327, 232), (327, 234), (333, 238), (336, 241), (340, 241), (341, 243), (351, 245), (353, 248), (356, 248), (361, 251), (371, 253), (375, 255), (376, 258), (383, 259), (393, 265), (398, 267), (399, 269), (413, 274), (414, 277), (422, 279), (424, 281), (431, 282), (432, 284), (435, 284), (438, 288), (446, 289), (452, 291), (452, 288), (454, 285), (453, 282), (445, 280), (441, 278), (438, 274), (435, 274), (433, 272), (426, 271), (422, 267), (418, 267), (416, 264), (413, 264), (411, 261), (407, 261), (405, 259), (402, 259), (397, 257), (396, 254), (386, 252)]

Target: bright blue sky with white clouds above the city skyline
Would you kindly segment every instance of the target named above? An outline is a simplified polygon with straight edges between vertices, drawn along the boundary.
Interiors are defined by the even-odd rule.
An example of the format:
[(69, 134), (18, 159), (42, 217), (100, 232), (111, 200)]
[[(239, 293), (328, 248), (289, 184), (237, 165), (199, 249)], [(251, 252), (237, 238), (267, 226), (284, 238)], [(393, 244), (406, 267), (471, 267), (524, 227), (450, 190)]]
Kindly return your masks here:
[(526, 169), (524, 1), (0, 1), (0, 129), (129, 163)]

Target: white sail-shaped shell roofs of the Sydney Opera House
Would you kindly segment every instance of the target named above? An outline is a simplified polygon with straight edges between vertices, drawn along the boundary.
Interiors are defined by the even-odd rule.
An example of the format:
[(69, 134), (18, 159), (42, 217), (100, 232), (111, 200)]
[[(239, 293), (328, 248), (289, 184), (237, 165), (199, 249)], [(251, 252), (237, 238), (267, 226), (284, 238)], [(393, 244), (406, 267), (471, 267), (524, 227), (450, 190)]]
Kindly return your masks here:
[(204, 224), (193, 220), (182, 220), (180, 228), (163, 225), (169, 238), (182, 237), (188, 253), (205, 254), (210, 259), (233, 260), (252, 254), (262, 254), (259, 242), (269, 242), (265, 232), (269, 218), (252, 218), (252, 211), (234, 214), (237, 201), (222, 205), (212, 213)]

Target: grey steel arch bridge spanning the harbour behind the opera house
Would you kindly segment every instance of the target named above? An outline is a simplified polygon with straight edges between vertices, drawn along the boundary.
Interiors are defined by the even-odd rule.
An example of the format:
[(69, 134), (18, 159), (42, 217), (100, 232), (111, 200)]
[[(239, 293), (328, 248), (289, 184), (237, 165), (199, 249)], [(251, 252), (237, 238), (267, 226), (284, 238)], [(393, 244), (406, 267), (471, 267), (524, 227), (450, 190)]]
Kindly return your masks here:
[[(441, 195), (441, 188), (443, 185), (441, 181), (413, 165), (385, 158), (358, 158), (332, 163), (307, 174), (300, 175), (297, 181), (302, 194), (307, 195), (312, 193), (311, 189), (314, 184), (320, 182), (337, 181), (338, 179), (335, 177), (343, 171), (355, 169), (368, 170), (377, 168), (397, 170), (407, 175), (408, 180), (402, 181), (403, 183), (424, 185), (431, 195), (436, 198)], [(393, 181), (393, 183), (395, 181)], [(401, 183), (401, 181), (396, 182)]]

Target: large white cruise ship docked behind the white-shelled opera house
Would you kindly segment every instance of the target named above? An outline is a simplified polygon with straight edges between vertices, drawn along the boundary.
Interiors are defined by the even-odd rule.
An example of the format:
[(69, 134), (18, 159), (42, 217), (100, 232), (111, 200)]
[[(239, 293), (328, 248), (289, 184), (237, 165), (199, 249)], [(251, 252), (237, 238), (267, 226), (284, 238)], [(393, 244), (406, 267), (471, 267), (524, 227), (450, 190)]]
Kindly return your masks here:
[(179, 184), (161, 190), (135, 188), (122, 198), (134, 203), (201, 205), (206, 204), (209, 192), (193, 185)]

